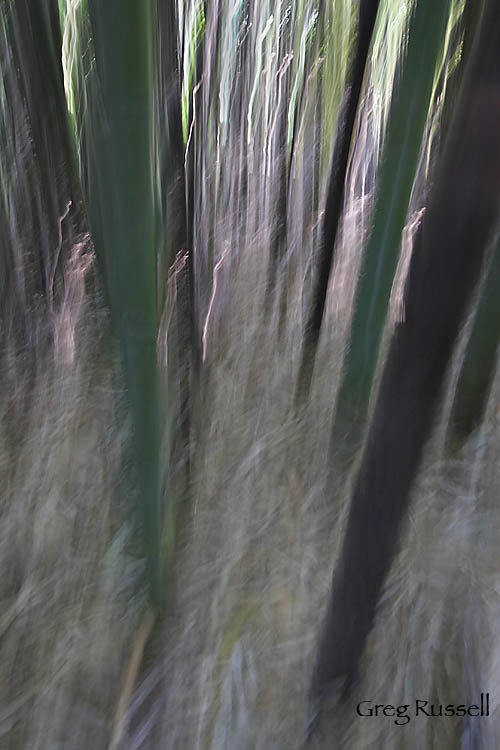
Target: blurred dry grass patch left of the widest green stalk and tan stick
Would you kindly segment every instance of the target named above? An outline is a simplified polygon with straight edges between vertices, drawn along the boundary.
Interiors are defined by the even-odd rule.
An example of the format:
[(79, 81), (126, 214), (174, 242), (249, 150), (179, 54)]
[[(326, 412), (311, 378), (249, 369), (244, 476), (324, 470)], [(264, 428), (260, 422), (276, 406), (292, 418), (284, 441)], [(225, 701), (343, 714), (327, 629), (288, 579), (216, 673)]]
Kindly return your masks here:
[[(130, 431), (117, 415), (123, 386), (117, 388), (109, 352), (109, 321), (102, 302), (96, 307), (86, 296), (77, 260), (66, 269), (70, 304), (52, 323), (59, 345), (39, 359), (35, 383), (22, 353), (7, 347), (2, 356), (0, 742), (6, 748), (106, 746), (143, 606), (142, 565), (116, 502)], [(40, 330), (42, 341), (45, 334)]]

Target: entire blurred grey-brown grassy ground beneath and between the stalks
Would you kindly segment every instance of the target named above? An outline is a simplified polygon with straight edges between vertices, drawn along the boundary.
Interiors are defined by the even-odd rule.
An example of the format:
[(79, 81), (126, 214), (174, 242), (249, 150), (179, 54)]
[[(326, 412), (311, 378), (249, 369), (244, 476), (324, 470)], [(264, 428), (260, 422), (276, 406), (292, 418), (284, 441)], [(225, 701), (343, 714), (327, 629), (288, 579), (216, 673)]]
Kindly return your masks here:
[[(300, 301), (279, 340), (278, 311), (263, 318), (263, 289), (249, 262), (213, 313), (188, 522), (171, 610), (128, 707), (130, 750), (289, 750), (306, 725), (348, 507), (349, 481), (327, 452), (346, 320), (329, 311), (297, 416)], [(142, 564), (117, 503), (130, 427), (108, 320), (83, 287), (71, 310), (48, 324), (59, 338), (31, 379), (22, 353), (2, 361), (0, 744), (11, 750), (109, 747), (144, 609)], [(314, 747), (500, 744), (500, 377), (479, 434), (453, 456), (442, 447), (446, 403), (358, 691), (341, 719), (324, 717)], [(398, 726), (356, 712), (361, 700), (446, 705), (476, 703), (481, 692), (489, 718)]]

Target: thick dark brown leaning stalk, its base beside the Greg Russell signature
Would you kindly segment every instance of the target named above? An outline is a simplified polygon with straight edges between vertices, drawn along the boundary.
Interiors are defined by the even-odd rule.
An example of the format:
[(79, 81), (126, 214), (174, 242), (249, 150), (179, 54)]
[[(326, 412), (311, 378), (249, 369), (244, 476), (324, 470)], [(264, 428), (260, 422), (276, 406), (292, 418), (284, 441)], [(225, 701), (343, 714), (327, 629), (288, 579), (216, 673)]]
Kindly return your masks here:
[(352, 687), (356, 678), (453, 347), (498, 222), (499, 44), (500, 10), (496, 0), (485, 0), (411, 261), (406, 319), (392, 336), (352, 485), (313, 676), (315, 700), (333, 685)]

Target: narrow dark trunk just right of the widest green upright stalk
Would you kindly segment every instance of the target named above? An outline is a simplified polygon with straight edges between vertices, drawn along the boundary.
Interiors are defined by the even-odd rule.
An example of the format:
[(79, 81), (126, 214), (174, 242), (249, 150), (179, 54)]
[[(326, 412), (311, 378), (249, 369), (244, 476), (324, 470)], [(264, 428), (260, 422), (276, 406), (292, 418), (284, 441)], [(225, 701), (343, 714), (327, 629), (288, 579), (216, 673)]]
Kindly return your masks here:
[[(199, 377), (201, 353), (197, 288), (195, 279), (194, 165), (196, 133), (185, 151), (182, 129), (181, 77), (179, 59), (178, 20), (175, 3), (157, 4), (159, 52), (159, 127), (162, 226), (167, 232), (162, 238), (167, 269), (175, 266), (175, 324), (169, 349), (175, 363), (169, 376), (170, 393), (175, 392), (175, 411), (178, 423), (174, 428), (171, 465), (177, 467), (170, 477), (171, 493), (186, 499), (190, 474), (190, 444), (192, 441), (193, 397)], [(196, 80), (201, 76), (203, 45), (197, 50)], [(192, 117), (189, 103), (188, 127)], [(174, 375), (175, 371), (175, 375)]]

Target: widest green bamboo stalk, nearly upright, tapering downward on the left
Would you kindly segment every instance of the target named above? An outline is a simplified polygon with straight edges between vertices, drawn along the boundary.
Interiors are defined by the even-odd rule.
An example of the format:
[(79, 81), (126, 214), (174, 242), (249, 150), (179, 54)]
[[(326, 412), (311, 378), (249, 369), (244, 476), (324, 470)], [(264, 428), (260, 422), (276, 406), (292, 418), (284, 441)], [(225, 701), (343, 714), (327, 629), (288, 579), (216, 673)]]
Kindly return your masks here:
[(133, 418), (150, 596), (163, 599), (150, 0), (89, 0), (102, 93), (91, 155), (90, 218), (104, 268)]

